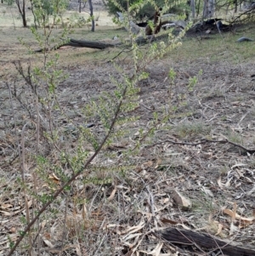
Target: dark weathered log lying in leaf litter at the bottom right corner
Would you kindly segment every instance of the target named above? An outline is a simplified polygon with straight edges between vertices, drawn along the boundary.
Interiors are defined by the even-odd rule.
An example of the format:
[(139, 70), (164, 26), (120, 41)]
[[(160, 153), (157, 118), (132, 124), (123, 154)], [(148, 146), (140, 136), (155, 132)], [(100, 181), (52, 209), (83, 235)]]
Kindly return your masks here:
[(255, 255), (255, 250), (252, 250), (252, 248), (238, 247), (234, 242), (224, 242), (216, 236), (211, 236), (206, 233), (198, 233), (192, 230), (170, 228), (162, 231), (159, 235), (167, 240), (167, 242), (196, 247), (201, 251), (206, 249), (207, 251), (210, 251), (210, 253), (220, 251), (221, 253), (224, 253), (224, 255), (226, 254), (229, 256)]

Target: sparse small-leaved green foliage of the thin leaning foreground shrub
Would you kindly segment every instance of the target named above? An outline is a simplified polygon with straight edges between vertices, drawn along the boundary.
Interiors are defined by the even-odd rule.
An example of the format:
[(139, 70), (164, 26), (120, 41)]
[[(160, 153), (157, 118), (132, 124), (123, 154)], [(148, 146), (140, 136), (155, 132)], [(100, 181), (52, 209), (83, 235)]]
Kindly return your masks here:
[[(34, 175), (37, 176), (37, 184), (41, 184), (42, 187), (38, 188), (38, 191), (32, 191), (27, 186), (26, 193), (33, 197), (38, 206), (43, 205), (46, 208), (53, 202), (59, 206), (62, 193), (66, 193), (67, 196), (71, 192), (76, 193), (81, 185), (88, 183), (111, 185), (114, 182), (113, 172), (118, 172), (125, 177), (128, 171), (133, 170), (134, 159), (139, 155), (140, 148), (144, 144), (153, 143), (159, 127), (166, 125), (173, 112), (178, 110), (178, 105), (172, 106), (169, 100), (169, 108), (159, 105), (155, 110), (150, 111), (148, 114), (150, 122), (146, 126), (134, 126), (134, 123), (139, 121), (139, 114), (136, 112), (136, 109), (140, 107), (139, 83), (150, 77), (149, 72), (146, 71), (147, 65), (161, 59), (181, 45), (179, 40), (184, 36), (185, 31), (181, 31), (178, 37), (174, 37), (171, 32), (167, 31), (162, 40), (159, 37), (155, 42), (148, 42), (145, 46), (139, 45), (136, 35), (130, 31), (129, 36), (132, 40), (129, 47), (132, 51), (130, 54), (132, 61), (128, 70), (122, 63), (114, 63), (120, 76), (111, 77), (112, 89), (102, 91), (94, 99), (88, 100), (82, 109), (83, 122), (80, 120), (77, 122), (75, 117), (66, 114), (67, 107), (59, 100), (59, 84), (67, 77), (65, 71), (59, 67), (59, 54), (48, 53), (48, 49), (63, 43), (59, 38), (66, 38), (68, 34), (68, 30), (65, 29), (61, 35), (54, 36), (54, 26), (47, 26), (49, 16), (53, 17), (54, 23), (61, 18), (61, 10), (65, 9), (65, 1), (53, 0), (45, 3), (45, 1), (37, 0), (33, 3), (36, 8), (35, 17), (43, 30), (32, 27), (31, 33), (37, 45), (42, 48), (42, 64), (30, 65), (27, 72), (24, 71), (22, 65), (18, 65), (18, 70), (26, 81), (26, 93), (32, 95), (29, 99), (31, 102), (23, 103), (35, 105), (29, 118), (37, 123), (39, 138), (37, 148), (41, 144), (47, 145), (47, 153), (30, 151), (35, 164)], [(158, 3), (153, 0), (140, 0), (130, 3), (129, 10), (132, 14), (136, 14), (146, 4), (156, 9)], [(164, 4), (164, 9), (167, 9), (167, 3)], [(117, 7), (122, 9), (119, 4)], [(128, 16), (127, 13), (124, 15)], [(20, 39), (20, 42), (27, 46), (31, 54), (34, 54), (23, 39)], [(173, 88), (175, 77), (176, 73), (170, 69), (169, 90)], [(190, 87), (187, 87), (186, 94), (189, 89), (194, 88), (195, 82), (197, 82), (197, 77), (190, 80)], [(169, 94), (171, 95), (170, 92)], [(186, 94), (181, 99), (182, 103), (186, 103)], [(20, 102), (22, 100), (24, 99)], [(68, 122), (69, 130), (63, 128), (58, 118), (55, 118), (59, 115)], [(94, 121), (96, 128), (88, 127), (90, 120)], [(184, 132), (190, 134), (193, 131), (201, 133), (202, 129), (189, 130), (187, 128)], [(134, 134), (136, 138), (133, 138)], [(112, 152), (109, 148), (111, 145), (124, 143), (125, 140), (129, 141), (130, 145), (123, 147), (121, 158), (117, 158), (118, 152)], [(116, 159), (120, 161), (118, 164), (116, 164)], [(82, 178), (77, 179), (78, 175)], [(38, 211), (37, 218), (40, 218), (43, 211), (48, 211), (48, 215), (44, 215), (47, 215), (48, 219), (59, 214), (56, 208), (51, 208), (51, 210), (42, 208), (42, 212)]]

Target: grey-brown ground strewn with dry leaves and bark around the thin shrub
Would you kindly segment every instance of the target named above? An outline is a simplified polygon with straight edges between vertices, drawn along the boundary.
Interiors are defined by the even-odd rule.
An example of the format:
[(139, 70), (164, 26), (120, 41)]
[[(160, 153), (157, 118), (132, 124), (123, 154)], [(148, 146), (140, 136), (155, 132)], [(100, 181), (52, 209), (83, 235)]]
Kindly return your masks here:
[[(15, 47), (19, 47), (18, 43), (12, 48), (5, 43), (4, 54), (14, 54)], [(65, 49), (68, 50), (72, 49)], [(58, 53), (61, 55), (63, 49)], [(73, 53), (82, 54), (84, 59), (89, 54), (84, 49)], [(101, 53), (108, 53), (108, 49)], [(184, 60), (178, 57), (181, 48), (175, 54), (145, 68), (150, 76), (137, 84), (139, 107), (128, 113), (130, 117), (139, 118), (129, 124), (129, 134), (111, 149), (104, 149), (104, 152), (113, 151), (113, 155), (95, 160), (94, 164), (101, 166), (95, 175), (98, 178), (110, 175), (110, 184), (90, 181), (81, 185), (80, 179), (76, 181), (71, 198), (84, 199), (84, 202), (67, 202), (66, 194), (61, 194), (57, 218), (45, 217), (47, 221), (41, 219), (38, 223), (41, 245), (37, 245), (40, 251), (36, 250), (35, 255), (215, 255), (203, 247), (195, 247), (192, 242), (177, 246), (153, 235), (161, 228), (173, 226), (207, 233), (255, 250), (255, 82), (251, 77), (255, 74), (254, 60), (235, 62), (224, 55), (213, 60), (213, 56), (206, 54)], [(2, 59), (0, 68), (1, 255), (6, 255), (10, 241), (20, 236), (19, 230), (26, 223), (22, 221), (25, 202), (18, 181), (18, 145), (22, 127), (30, 118), (24, 105), (14, 98), (13, 102), (10, 100), (8, 85), (10, 88), (19, 85), (20, 91), (26, 88), (14, 70), (8, 74), (11, 61), (13, 59)], [(131, 62), (123, 60), (122, 55), (116, 62), (123, 72), (128, 74), (132, 70)], [(65, 130), (93, 123), (92, 129), (100, 134), (100, 120), (86, 117), (84, 105), (90, 100), (97, 101), (105, 92), (111, 93), (116, 88), (111, 77), (121, 81), (123, 72), (116, 71), (114, 65), (105, 60), (94, 63), (81, 60), (71, 65), (67, 61), (63, 69), (69, 77), (60, 83), (57, 94), (65, 117), (56, 111), (54, 121)], [(168, 76), (170, 69), (176, 72), (173, 81)], [(197, 77), (197, 82), (189, 91), (193, 77)], [(26, 96), (27, 100), (31, 97)], [(128, 159), (127, 173), (122, 176), (122, 161), (126, 161), (122, 159), (122, 152), (135, 145), (141, 128), (148, 131), (155, 111), (161, 117), (166, 109), (172, 114), (164, 125), (156, 127), (153, 137), (141, 140), (141, 150)], [(67, 122), (66, 117), (72, 122)], [(125, 124), (118, 128), (124, 129)], [(35, 136), (29, 138), (26, 182), (31, 188), (36, 167), (31, 164), (30, 153), (35, 150)], [(75, 139), (65, 139), (62, 151), (76, 148)], [(47, 155), (48, 147), (40, 147), (42, 154)], [(102, 166), (112, 168), (111, 174), (104, 173)], [(53, 171), (49, 167), (47, 172)], [(86, 175), (90, 177), (92, 172), (86, 171), (81, 180)], [(176, 191), (192, 202), (190, 208), (181, 207)], [(29, 205), (34, 214), (37, 208), (32, 200)], [(86, 241), (82, 237), (86, 237)], [(17, 255), (28, 255), (26, 243)]]

